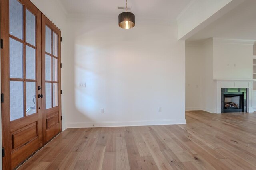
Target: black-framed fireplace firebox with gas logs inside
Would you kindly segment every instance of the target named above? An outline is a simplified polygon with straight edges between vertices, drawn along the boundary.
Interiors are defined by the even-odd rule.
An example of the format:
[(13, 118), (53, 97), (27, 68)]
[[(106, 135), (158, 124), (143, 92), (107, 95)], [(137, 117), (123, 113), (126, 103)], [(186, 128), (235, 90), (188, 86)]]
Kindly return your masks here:
[(223, 93), (223, 113), (244, 112), (244, 92)]

